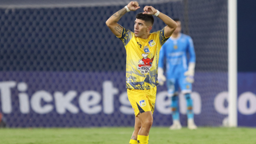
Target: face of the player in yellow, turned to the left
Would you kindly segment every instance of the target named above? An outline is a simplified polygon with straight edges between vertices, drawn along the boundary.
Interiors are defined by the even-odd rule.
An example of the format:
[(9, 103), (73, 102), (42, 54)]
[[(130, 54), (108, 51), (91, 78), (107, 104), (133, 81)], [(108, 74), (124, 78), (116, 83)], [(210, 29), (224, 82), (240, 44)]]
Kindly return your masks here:
[(150, 27), (147, 24), (148, 23), (146, 23), (143, 20), (136, 19), (134, 21), (134, 35), (137, 37), (141, 37), (141, 36), (147, 34), (149, 27)]

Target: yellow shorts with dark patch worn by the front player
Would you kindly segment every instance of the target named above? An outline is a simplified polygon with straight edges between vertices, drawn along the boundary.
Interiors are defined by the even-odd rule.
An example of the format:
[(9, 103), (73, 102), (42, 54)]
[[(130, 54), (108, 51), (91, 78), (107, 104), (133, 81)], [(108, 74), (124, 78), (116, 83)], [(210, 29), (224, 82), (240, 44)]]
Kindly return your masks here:
[(154, 113), (156, 102), (156, 86), (150, 90), (127, 89), (128, 99), (131, 102), (135, 116), (145, 111)]

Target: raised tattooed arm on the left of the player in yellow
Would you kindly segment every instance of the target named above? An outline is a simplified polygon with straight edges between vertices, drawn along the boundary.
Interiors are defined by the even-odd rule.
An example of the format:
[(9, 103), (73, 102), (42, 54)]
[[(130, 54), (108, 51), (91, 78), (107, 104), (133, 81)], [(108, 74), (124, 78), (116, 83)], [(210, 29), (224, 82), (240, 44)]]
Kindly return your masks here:
[[(128, 9), (131, 11), (136, 11), (138, 10), (139, 7), (139, 3), (138, 2), (130, 2), (127, 5)], [(121, 19), (121, 17), (127, 12), (126, 8), (124, 7), (123, 9), (119, 10), (118, 12), (116, 12), (115, 14), (113, 14), (107, 21), (106, 21), (106, 25), (109, 27), (109, 29), (112, 31), (113, 34), (115, 34), (116, 36), (120, 37), (122, 35), (122, 30), (123, 27), (120, 26), (117, 22), (119, 21), (119, 19)]]

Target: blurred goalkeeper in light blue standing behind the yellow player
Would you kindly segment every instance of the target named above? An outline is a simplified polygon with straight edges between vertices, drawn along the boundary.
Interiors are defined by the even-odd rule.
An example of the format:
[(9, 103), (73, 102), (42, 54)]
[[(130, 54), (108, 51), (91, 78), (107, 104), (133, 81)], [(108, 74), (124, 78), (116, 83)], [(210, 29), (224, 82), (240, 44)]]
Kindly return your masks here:
[[(165, 58), (167, 74), (166, 83), (168, 95), (171, 97), (172, 101), (171, 108), (173, 125), (170, 126), (170, 129), (181, 129), (178, 107), (178, 91), (180, 87), (181, 92), (185, 95), (187, 101), (188, 129), (193, 130), (197, 129), (197, 126), (194, 123), (193, 101), (190, 93), (192, 90), (191, 83), (194, 82), (196, 55), (192, 38), (180, 32), (181, 22), (179, 19), (174, 19), (174, 21), (178, 24), (178, 27), (160, 51), (158, 81), (160, 85), (163, 85), (166, 81), (163, 71)], [(187, 59), (187, 53), (189, 53), (189, 60)]]

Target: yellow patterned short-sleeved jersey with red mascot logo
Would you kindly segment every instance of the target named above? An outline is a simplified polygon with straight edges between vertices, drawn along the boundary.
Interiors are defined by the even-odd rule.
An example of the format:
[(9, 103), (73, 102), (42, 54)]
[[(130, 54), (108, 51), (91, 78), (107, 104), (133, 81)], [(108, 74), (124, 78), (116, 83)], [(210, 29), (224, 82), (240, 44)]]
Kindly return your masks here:
[(126, 88), (149, 90), (158, 85), (157, 69), (159, 51), (169, 37), (164, 28), (150, 33), (147, 39), (123, 28), (121, 37), (126, 49)]

